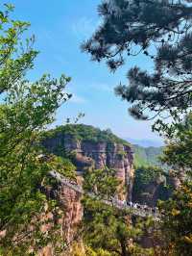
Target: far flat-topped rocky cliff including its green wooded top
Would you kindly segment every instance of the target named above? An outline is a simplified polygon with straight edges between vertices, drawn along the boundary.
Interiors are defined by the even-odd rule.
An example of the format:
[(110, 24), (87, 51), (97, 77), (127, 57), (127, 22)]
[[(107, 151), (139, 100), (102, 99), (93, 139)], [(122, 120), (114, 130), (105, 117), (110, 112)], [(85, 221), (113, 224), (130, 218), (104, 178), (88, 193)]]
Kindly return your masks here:
[(49, 132), (43, 146), (54, 154), (70, 155), (78, 175), (83, 175), (89, 166), (115, 169), (126, 187), (126, 193), (119, 196), (132, 199), (133, 154), (127, 141), (92, 126), (66, 125)]

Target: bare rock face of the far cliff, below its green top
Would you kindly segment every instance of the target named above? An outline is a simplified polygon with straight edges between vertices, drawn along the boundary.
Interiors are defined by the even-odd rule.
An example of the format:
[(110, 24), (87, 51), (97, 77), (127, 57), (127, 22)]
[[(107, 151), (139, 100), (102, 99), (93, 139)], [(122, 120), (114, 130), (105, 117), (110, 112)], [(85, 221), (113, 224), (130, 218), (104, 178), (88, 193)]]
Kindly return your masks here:
[[(133, 183), (133, 155), (129, 145), (108, 141), (78, 141), (73, 136), (63, 133), (53, 138), (47, 138), (43, 145), (49, 152), (73, 152), (73, 162), (77, 166), (77, 173), (82, 175), (86, 167), (113, 168), (116, 176), (126, 186), (126, 194), (119, 195), (121, 198), (132, 199)], [(122, 198), (122, 199), (123, 199)]]

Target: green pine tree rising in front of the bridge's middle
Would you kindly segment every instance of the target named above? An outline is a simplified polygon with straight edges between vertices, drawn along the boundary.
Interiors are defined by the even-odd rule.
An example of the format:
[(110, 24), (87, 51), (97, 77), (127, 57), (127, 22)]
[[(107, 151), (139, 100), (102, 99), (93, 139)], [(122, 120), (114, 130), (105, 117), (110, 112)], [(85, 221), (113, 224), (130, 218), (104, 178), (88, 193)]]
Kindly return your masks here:
[[(90, 171), (85, 175), (84, 191), (95, 194), (95, 198), (84, 195), (83, 199), (84, 243), (95, 251), (102, 248), (112, 256), (136, 255), (131, 253), (137, 244), (129, 245), (129, 242), (142, 234), (142, 224), (138, 222), (133, 227), (129, 213), (112, 206), (111, 198), (119, 192), (114, 171)], [(111, 201), (111, 205), (104, 200)]]

